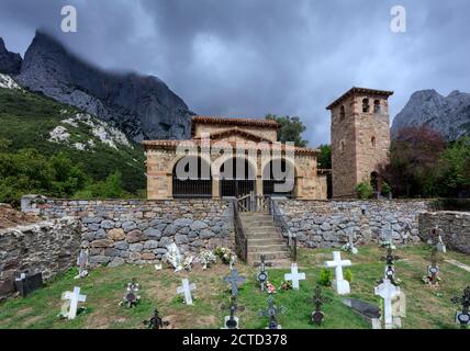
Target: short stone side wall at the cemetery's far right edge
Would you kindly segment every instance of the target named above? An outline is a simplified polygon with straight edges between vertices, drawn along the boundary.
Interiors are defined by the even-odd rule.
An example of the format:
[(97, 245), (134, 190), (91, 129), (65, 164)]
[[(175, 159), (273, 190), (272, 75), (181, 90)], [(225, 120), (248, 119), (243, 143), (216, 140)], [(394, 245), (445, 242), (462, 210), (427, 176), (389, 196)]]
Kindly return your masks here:
[(429, 212), (419, 215), (419, 237), (430, 239), (430, 230), (439, 226), (447, 248), (470, 254), (470, 212)]

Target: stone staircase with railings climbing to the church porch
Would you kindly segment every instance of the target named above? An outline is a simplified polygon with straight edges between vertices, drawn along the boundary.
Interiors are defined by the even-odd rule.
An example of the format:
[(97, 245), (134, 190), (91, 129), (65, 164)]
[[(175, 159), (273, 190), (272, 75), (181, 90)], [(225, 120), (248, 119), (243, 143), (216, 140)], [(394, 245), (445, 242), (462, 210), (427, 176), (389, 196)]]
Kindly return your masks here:
[(291, 265), (287, 240), (268, 212), (244, 212), (239, 216), (248, 240), (247, 264), (259, 265), (264, 254), (268, 267)]

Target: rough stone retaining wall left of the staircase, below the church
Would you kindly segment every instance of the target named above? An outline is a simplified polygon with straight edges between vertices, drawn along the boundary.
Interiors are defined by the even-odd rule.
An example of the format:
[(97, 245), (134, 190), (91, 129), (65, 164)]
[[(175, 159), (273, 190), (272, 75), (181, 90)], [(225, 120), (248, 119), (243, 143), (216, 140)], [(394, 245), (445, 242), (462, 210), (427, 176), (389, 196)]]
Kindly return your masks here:
[(183, 252), (194, 253), (232, 242), (233, 211), (228, 202), (47, 200), (40, 207), (47, 217), (80, 218), (92, 265), (156, 263), (171, 242)]

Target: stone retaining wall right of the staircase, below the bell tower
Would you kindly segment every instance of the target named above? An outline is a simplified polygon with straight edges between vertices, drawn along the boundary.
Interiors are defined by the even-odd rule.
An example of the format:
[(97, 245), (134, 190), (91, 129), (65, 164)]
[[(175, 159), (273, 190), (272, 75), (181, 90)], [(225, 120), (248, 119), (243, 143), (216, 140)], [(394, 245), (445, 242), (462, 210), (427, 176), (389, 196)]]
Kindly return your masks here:
[(292, 233), (307, 248), (339, 247), (354, 228), (359, 245), (377, 242), (388, 222), (395, 244), (419, 242), (418, 216), (430, 201), (279, 201)]

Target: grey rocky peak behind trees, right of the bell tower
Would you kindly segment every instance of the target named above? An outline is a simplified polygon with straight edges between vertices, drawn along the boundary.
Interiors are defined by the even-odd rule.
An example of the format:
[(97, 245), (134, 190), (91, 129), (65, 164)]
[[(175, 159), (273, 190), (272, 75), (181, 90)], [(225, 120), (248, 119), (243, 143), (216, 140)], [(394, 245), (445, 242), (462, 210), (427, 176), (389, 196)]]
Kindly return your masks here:
[(403, 127), (428, 125), (447, 140), (470, 136), (470, 94), (452, 91), (443, 97), (436, 90), (415, 92), (392, 125), (392, 137)]

